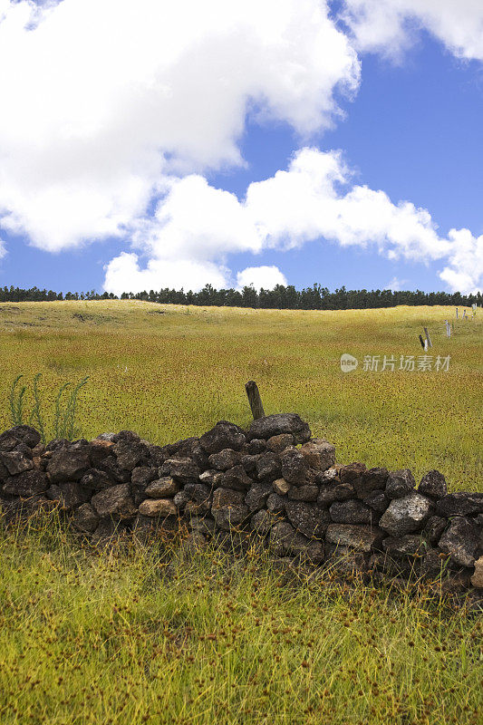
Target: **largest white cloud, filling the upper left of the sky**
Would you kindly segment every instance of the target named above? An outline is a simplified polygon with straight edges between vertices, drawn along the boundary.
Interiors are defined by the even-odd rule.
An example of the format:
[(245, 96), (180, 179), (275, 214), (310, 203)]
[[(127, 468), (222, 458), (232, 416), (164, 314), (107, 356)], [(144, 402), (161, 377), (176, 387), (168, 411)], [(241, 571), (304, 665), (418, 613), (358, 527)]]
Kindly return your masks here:
[(320, 0), (0, 0), (0, 68), (0, 224), (50, 251), (243, 163), (249, 113), (331, 126), (360, 72)]

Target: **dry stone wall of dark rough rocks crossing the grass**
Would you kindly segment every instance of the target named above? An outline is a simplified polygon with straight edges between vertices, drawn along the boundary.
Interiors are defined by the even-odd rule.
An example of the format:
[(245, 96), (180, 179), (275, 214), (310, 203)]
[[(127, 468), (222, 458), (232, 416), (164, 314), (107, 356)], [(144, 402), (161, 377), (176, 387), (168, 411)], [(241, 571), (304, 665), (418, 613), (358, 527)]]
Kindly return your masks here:
[(256, 536), (276, 557), (374, 577), (483, 588), (483, 493), (449, 494), (431, 470), (335, 462), (295, 413), (221, 420), (200, 438), (155, 446), (129, 430), (52, 440), (0, 435), (0, 506), (11, 520), (59, 507), (92, 542), (186, 527), (192, 539)]

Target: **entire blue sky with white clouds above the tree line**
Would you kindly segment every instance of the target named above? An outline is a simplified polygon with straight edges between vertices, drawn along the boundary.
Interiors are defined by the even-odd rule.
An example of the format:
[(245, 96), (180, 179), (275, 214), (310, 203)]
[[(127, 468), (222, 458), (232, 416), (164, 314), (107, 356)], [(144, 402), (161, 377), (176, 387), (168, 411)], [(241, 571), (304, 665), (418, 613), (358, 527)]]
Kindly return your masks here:
[[(140, 2), (146, 5), (148, 16), (150, 10), (156, 14), (151, 18), (153, 24), (170, 20), (174, 13), (169, 3)], [(286, 2), (290, 5), (290, 0)], [(55, 19), (61, 5), (65, 16)], [(118, 0), (117, 7), (120, 5), (128, 13), (131, 3)], [(247, 18), (234, 10), (235, 20), (244, 29), (243, 48), (251, 41), (250, 34), (257, 34), (259, 26), (269, 21), (269, 5), (272, 0), (267, 0), (267, 17), (259, 22), (253, 13)], [(305, 5), (317, 6), (320, 12), (323, 4), (306, 0)], [(173, 95), (179, 92), (175, 110), (160, 105), (159, 118), (155, 109), (150, 127), (147, 124), (143, 131), (151, 109), (140, 104), (137, 113), (136, 102), (147, 75), (153, 89), (150, 103), (157, 98), (159, 89), (152, 81), (150, 64), (155, 71), (160, 61), (154, 55), (144, 59), (126, 81), (126, 88), (134, 88), (131, 96), (124, 93), (122, 67), (108, 63), (101, 51), (93, 53), (90, 68), (72, 51), (74, 82), (69, 92), (72, 90), (73, 100), (68, 92), (65, 101), (62, 74), (49, 65), (56, 63), (49, 61), (49, 48), (56, 40), (61, 43), (61, 31), (68, 35), (75, 26), (82, 40), (80, 19), (86, 34), (92, 22), (98, 20), (101, 29), (107, 30), (104, 23), (109, 21), (111, 27), (119, 24), (122, 39), (128, 14), (125, 18), (122, 12), (121, 17), (113, 16), (111, 0), (97, 0), (97, 5), (91, 0), (83, 0), (83, 5), (79, 0), (63, 0), (37, 18), (34, 30), (27, 30), (25, 21), (32, 4), (0, 0), (0, 17), (4, 10), (0, 42), (3, 32), (4, 39), (20, 44), (27, 58), (34, 53), (35, 60), (43, 60), (42, 106), (33, 90), (39, 79), (20, 68), (14, 82), (8, 82), (5, 75), (9, 72), (2, 63), (0, 92), (12, 108), (18, 106), (18, 113), (32, 111), (33, 121), (15, 123), (12, 112), (11, 118), (7, 114), (0, 123), (0, 154), (6, 160), (3, 174), (0, 171), (0, 239), (5, 250), (0, 259), (0, 285), (37, 285), (63, 292), (107, 288), (119, 293), (129, 285), (127, 291), (168, 285), (188, 288), (206, 282), (219, 286), (253, 281), (270, 286), (286, 280), (297, 287), (318, 282), (331, 289), (342, 285), (427, 291), (481, 289), (483, 10), (476, 17), (469, 13), (468, 22), (461, 21), (465, 33), (459, 34), (458, 44), (451, 34), (451, 10), (445, 2), (440, 17), (435, 18), (434, 14), (415, 14), (414, 4), (407, 0), (407, 14), (397, 15), (399, 25), (389, 38), (384, 35), (384, 21), (391, 17), (395, 4), (391, 0), (378, 4), (382, 18), (372, 13), (369, 37), (363, 13), (372, 12), (373, 7), (370, 0), (367, 7), (363, 5), (363, 0), (332, 5), (332, 15), (324, 13), (323, 7), (321, 32), (330, 33), (331, 42), (338, 43), (332, 56), (340, 54), (339, 65), (330, 68), (332, 56), (325, 59), (323, 53), (318, 57), (320, 41), (312, 36), (314, 24), (305, 24), (304, 16), (297, 17), (296, 43), (306, 33), (314, 55), (307, 52), (301, 59), (297, 54), (296, 61), (307, 64), (313, 87), (308, 85), (307, 96), (302, 98), (296, 85), (279, 88), (285, 58), (274, 45), (269, 56), (274, 75), (264, 79), (264, 101), (259, 98), (256, 69), (245, 59), (244, 70), (245, 56), (239, 61), (236, 47), (233, 57), (227, 50), (227, 45), (237, 42), (237, 38), (233, 43), (230, 40), (232, 18), (227, 17), (229, 32), (223, 26), (214, 31), (204, 18), (208, 51), (199, 43), (189, 44), (189, 31), (176, 19), (190, 63), (198, 61), (208, 69), (201, 80), (199, 76), (195, 79), (204, 97), (193, 101), (192, 71), (183, 71), (184, 65), (179, 70), (177, 60), (168, 80), (163, 80), (163, 103), (166, 85), (172, 85)], [(14, 17), (19, 6), (24, 6), (23, 18)], [(464, 15), (465, 3), (459, 8)], [(333, 17), (341, 9), (350, 13), (348, 23), (339, 18), (334, 24)], [(418, 29), (414, 30), (416, 20)], [(149, 45), (149, 30), (141, 25), (139, 32), (146, 32)], [(295, 43), (291, 32), (290, 27), (281, 28), (285, 44)], [(39, 34), (36, 43), (35, 34)], [(101, 39), (100, 31), (100, 47)], [(227, 39), (230, 43), (225, 43)], [(111, 51), (121, 53), (121, 40)], [(263, 54), (260, 62), (264, 62)], [(107, 70), (104, 63), (110, 66)], [(239, 85), (239, 91), (227, 92), (225, 106), (217, 73), (212, 71), (218, 65), (224, 69), (222, 88)], [(102, 106), (102, 97), (95, 91), (96, 68), (105, 73), (110, 88), (112, 79), (116, 93), (108, 98), (111, 105)], [(336, 79), (329, 90), (327, 75)], [(350, 97), (341, 92), (347, 82), (352, 84)], [(314, 102), (317, 93), (324, 101), (322, 110)], [(79, 94), (85, 106), (76, 105)], [(207, 97), (215, 111), (206, 110)], [(49, 99), (52, 103), (46, 109)], [(305, 114), (312, 102), (313, 112), (309, 109)], [(260, 119), (260, 109), (266, 111), (270, 104)], [(97, 115), (100, 106), (102, 112)], [(84, 119), (86, 107), (92, 111)], [(77, 128), (79, 108), (84, 125)], [(125, 113), (129, 123), (113, 125), (112, 119), (119, 123), (119, 116), (112, 109)], [(35, 113), (40, 119), (37, 127)], [(161, 128), (167, 116), (172, 126)], [(178, 123), (181, 134), (176, 132)], [(133, 140), (138, 128), (142, 146)], [(112, 142), (112, 149), (111, 139), (119, 144)], [(98, 163), (106, 147), (105, 160)], [(159, 164), (159, 149), (165, 155), (164, 166)], [(335, 151), (340, 155), (335, 156)], [(66, 158), (68, 163), (63, 163)], [(327, 187), (329, 162), (337, 179)], [(279, 182), (280, 172), (286, 175), (287, 170), (283, 186), (253, 186), (266, 179)], [(322, 181), (319, 173), (324, 174)], [(255, 202), (250, 193), (246, 198), (248, 188), (253, 189)], [(235, 197), (223, 195), (221, 190)], [(378, 191), (384, 193), (384, 199), (375, 196)], [(311, 203), (305, 210), (307, 197)], [(414, 205), (406, 209), (404, 218), (397, 206), (401, 201)], [(291, 204), (294, 209), (286, 209)], [(427, 210), (430, 217), (421, 218), (418, 208)], [(382, 223), (386, 215), (387, 221)], [(398, 230), (406, 224), (400, 234)], [(458, 231), (452, 234), (451, 230)], [(258, 271), (250, 271), (254, 268)]]

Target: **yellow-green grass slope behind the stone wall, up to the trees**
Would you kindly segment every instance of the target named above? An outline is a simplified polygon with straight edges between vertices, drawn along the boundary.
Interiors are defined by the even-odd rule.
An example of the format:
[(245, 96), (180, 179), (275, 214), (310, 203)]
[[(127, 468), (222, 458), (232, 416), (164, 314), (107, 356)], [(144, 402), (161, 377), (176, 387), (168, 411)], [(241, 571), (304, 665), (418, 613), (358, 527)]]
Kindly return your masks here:
[[(161, 314), (159, 314), (161, 313)], [(76, 315), (82, 315), (83, 320)], [(444, 320), (454, 322), (446, 336)], [(399, 371), (400, 356), (450, 356), (448, 372)], [(42, 372), (52, 423), (63, 382), (90, 376), (79, 434), (137, 430), (164, 443), (217, 420), (250, 420), (244, 384), (259, 385), (266, 412), (296, 411), (331, 440), (342, 462), (440, 469), (449, 488), (481, 490), (483, 311), (450, 307), (305, 312), (142, 302), (0, 304), (0, 427), (10, 424), (11, 382)], [(342, 353), (359, 360), (343, 373)], [(394, 355), (394, 372), (364, 372), (364, 355)], [(30, 403), (27, 401), (27, 407)], [(49, 417), (50, 416), (50, 417)], [(47, 425), (49, 428), (49, 425)]]

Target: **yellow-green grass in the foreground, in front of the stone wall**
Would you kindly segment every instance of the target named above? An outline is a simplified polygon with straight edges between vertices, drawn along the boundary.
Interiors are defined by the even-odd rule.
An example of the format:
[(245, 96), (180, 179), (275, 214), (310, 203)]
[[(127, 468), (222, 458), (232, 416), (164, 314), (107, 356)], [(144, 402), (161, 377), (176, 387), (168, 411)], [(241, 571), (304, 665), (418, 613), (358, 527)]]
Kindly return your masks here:
[(481, 621), (260, 556), (0, 532), (0, 721), (478, 723)]

